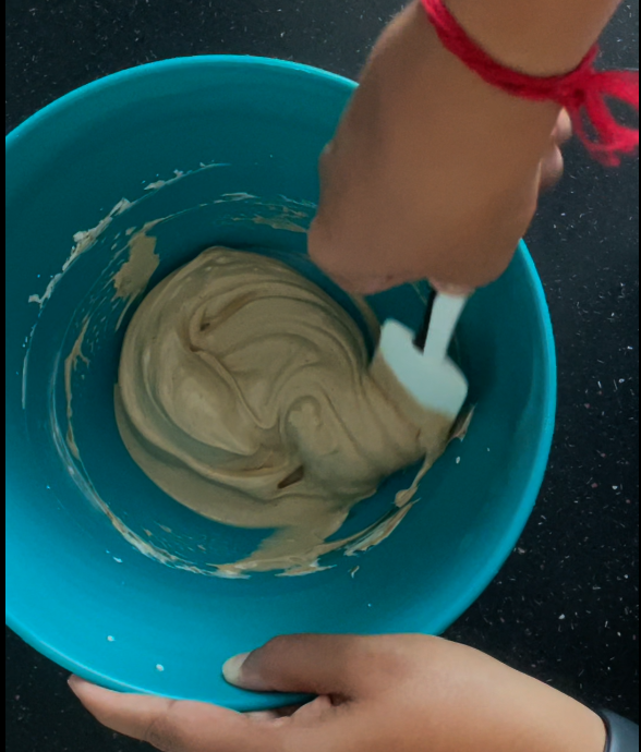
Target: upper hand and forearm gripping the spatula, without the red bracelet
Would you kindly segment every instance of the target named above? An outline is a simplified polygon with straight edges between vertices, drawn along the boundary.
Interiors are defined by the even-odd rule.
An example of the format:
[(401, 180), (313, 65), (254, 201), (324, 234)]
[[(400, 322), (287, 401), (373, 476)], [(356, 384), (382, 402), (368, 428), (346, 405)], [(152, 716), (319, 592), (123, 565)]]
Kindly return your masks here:
[[(352, 292), (371, 294), (421, 278), (464, 289), (497, 279), (542, 187), (563, 171), (560, 145), (570, 120), (579, 122), (565, 96), (516, 96), (493, 85), (481, 65), (467, 64), (456, 46), (445, 44), (451, 20), (439, 25), (438, 9), (426, 12), (423, 2), (409, 3), (376, 44), (322, 160), (310, 254)], [(443, 2), (496, 61), (541, 76), (577, 69), (618, 4)], [(582, 73), (590, 77), (586, 68)], [(629, 134), (590, 146), (616, 151), (619, 135), (621, 153), (631, 151)]]

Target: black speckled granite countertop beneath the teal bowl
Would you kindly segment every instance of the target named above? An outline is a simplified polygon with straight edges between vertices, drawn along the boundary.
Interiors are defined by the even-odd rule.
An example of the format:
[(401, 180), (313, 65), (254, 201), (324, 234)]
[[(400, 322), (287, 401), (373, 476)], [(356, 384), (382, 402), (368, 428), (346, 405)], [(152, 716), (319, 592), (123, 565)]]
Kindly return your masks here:
[[(62, 94), (152, 60), (251, 53), (355, 77), (400, 0), (7, 0), (7, 131)], [(639, 3), (604, 38), (638, 66)], [(584, 701), (638, 716), (639, 166), (568, 149), (529, 234), (559, 355), (556, 440), (515, 554), (449, 631)], [(7, 632), (9, 752), (133, 752), (65, 674)]]

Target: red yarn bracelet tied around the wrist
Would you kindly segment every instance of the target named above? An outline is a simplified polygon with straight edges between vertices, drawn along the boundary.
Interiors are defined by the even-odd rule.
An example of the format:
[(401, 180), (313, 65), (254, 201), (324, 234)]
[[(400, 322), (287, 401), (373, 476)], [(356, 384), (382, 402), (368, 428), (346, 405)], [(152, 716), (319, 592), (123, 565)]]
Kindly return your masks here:
[[(598, 47), (566, 75), (539, 77), (519, 73), (496, 62), (485, 52), (446, 8), (444, 0), (421, 0), (444, 47), (456, 54), (485, 82), (508, 94), (537, 101), (552, 100), (565, 107), (575, 132), (600, 162), (620, 165), (621, 156), (639, 147), (639, 129), (615, 120), (606, 99), (618, 99), (639, 112), (639, 73), (597, 71)], [(594, 138), (589, 133), (594, 132)]]

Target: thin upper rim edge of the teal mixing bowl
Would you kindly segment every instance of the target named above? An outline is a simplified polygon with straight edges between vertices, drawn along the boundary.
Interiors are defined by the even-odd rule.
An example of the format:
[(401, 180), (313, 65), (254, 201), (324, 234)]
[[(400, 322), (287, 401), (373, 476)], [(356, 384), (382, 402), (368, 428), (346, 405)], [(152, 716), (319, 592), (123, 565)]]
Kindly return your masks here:
[[(353, 92), (358, 87), (356, 82), (344, 76), (330, 73), (312, 65), (273, 58), (234, 54), (205, 54), (161, 60), (112, 73), (73, 89), (72, 92), (56, 99), (32, 114), (5, 136), (5, 151), (16, 144), (19, 140), (21, 141), (29, 137), (31, 133), (35, 129), (44, 125), (49, 118), (56, 117), (59, 112), (76, 106), (87, 94), (96, 94), (107, 87), (119, 85), (136, 78), (143, 78), (148, 75), (161, 74), (165, 71), (188, 69), (194, 65), (203, 64), (210, 65), (211, 68), (225, 65), (249, 68), (258, 65), (273, 69), (274, 71), (280, 70), (288, 73), (298, 72), (314, 76), (316, 80), (322, 80), (343, 90), (349, 89), (350, 92)], [(515, 506), (513, 518), (510, 525), (504, 531), (499, 545), (497, 545), (487, 556), (487, 558), (479, 566), (475, 577), (470, 581), (469, 586), (462, 590), (458, 597), (452, 598), (449, 603), (449, 606), (444, 609), (440, 617), (435, 620), (436, 627), (434, 628), (433, 632), (437, 634), (443, 633), (458, 618), (460, 618), (465, 610), (468, 610), (468, 608), (486, 590), (512, 553), (534, 508), (536, 498), (541, 490), (541, 485), (543, 483), (543, 477), (545, 475), (552, 448), (557, 404), (557, 372), (554, 332), (543, 284), (528, 246), (522, 240), (519, 242), (517, 255), (521, 258), (525, 266), (527, 284), (530, 288), (530, 292), (535, 303), (536, 317), (539, 319), (537, 326), (541, 332), (540, 347), (544, 361), (543, 383), (541, 385), (543, 392), (542, 430), (536, 438), (536, 445), (532, 452), (532, 469), (523, 489), (523, 494), (521, 495), (518, 504)], [(414, 607), (414, 609), (416, 608), (418, 605)], [(415, 615), (416, 610), (414, 610), (414, 616)], [(132, 691), (134, 689), (118, 680), (114, 680), (111, 677), (107, 677), (98, 671), (93, 670), (89, 666), (81, 665), (71, 656), (58, 651), (53, 645), (43, 639), (43, 636), (37, 633), (37, 630), (34, 630), (33, 628), (22, 623), (16, 615), (10, 612), (7, 607), (7, 601), (5, 624), (39, 653), (50, 658), (58, 665), (63, 666), (71, 671), (78, 672), (89, 681), (96, 681), (102, 686), (111, 687), (112, 689), (125, 691)], [(269, 705), (269, 703), (263, 703), (263, 705)]]

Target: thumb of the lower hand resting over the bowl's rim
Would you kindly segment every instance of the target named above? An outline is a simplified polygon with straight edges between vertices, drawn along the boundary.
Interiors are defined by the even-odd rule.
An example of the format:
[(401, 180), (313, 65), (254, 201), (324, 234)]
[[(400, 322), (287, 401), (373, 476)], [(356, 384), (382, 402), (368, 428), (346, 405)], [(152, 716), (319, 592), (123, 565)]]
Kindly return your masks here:
[(228, 660), (230, 684), (255, 692), (303, 692), (353, 698), (366, 671), (370, 639), (292, 634)]

